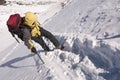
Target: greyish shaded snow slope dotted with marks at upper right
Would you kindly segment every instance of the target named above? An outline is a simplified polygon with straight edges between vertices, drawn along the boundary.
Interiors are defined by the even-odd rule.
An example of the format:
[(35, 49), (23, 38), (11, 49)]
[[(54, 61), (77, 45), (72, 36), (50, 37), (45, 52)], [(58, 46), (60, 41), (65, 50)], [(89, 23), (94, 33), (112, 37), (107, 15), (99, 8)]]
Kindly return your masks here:
[[(113, 39), (115, 46), (120, 48), (116, 45), (120, 43), (119, 39), (116, 39), (120, 35), (119, 8), (119, 0), (74, 0), (45, 26), (52, 32), (80, 32), (95, 37), (104, 37), (107, 33), (109, 36), (114, 36), (114, 39), (108, 40), (109, 43)], [(113, 42), (110, 44), (114, 45)]]

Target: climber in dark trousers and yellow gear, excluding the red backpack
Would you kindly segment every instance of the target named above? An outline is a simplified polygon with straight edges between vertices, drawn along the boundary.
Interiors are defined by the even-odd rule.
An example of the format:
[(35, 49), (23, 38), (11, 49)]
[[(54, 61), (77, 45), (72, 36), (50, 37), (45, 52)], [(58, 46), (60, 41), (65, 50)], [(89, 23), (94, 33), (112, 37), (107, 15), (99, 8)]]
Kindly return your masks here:
[(37, 50), (32, 40), (39, 43), (45, 52), (50, 51), (49, 47), (46, 45), (42, 38), (43, 36), (48, 38), (57, 49), (63, 48), (63, 46), (58, 42), (58, 40), (52, 33), (40, 27), (40, 23), (37, 21), (37, 16), (33, 12), (25, 13), (25, 17), (23, 17), (21, 20), (20, 30), (18, 30), (18, 33), (10, 29), (9, 31), (11, 32), (13, 37), (14, 33), (18, 34), (18, 37), (24, 41), (28, 49), (30, 49), (31, 52), (34, 54), (37, 53)]

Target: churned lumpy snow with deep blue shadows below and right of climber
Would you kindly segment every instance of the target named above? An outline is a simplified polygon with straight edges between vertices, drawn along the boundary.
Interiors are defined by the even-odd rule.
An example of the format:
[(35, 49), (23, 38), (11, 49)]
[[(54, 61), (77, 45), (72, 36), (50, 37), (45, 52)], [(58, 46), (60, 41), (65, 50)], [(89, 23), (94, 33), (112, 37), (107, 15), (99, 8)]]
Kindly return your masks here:
[[(105, 80), (118, 79), (120, 70), (119, 52), (105, 42), (93, 46), (94, 39), (79, 37), (80, 34), (56, 34), (56, 38), (63, 43), (66, 41), (71, 51), (54, 50), (45, 55), (40, 52), (45, 67), (50, 69), (52, 80)], [(52, 43), (49, 42), (49, 47)], [(114, 71), (115, 70), (115, 71)], [(113, 75), (106, 77), (105, 75)], [(61, 77), (62, 76), (62, 77)], [(116, 79), (116, 80), (117, 80)]]

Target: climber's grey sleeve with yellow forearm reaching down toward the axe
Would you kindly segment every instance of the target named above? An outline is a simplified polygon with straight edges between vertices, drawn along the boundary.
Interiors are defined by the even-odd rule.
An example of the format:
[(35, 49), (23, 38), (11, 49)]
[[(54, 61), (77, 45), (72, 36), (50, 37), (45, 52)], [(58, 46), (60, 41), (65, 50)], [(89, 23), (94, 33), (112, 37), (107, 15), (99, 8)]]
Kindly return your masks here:
[(34, 47), (32, 40), (31, 40), (31, 33), (30, 30), (28, 28), (24, 28), (22, 29), (23, 32), (23, 40), (25, 45), (29, 48), (32, 49)]

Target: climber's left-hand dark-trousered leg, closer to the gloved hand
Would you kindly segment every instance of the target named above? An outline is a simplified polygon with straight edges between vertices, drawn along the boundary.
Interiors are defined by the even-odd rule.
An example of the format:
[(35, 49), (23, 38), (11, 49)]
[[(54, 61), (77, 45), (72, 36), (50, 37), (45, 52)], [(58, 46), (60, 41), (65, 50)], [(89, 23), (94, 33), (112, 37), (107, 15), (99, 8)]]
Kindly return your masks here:
[(50, 51), (49, 47), (46, 45), (42, 37), (32, 37), (32, 40), (39, 43), (45, 51)]

